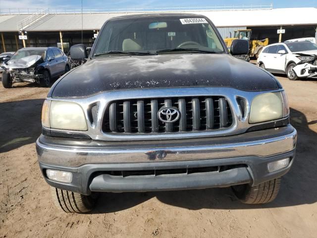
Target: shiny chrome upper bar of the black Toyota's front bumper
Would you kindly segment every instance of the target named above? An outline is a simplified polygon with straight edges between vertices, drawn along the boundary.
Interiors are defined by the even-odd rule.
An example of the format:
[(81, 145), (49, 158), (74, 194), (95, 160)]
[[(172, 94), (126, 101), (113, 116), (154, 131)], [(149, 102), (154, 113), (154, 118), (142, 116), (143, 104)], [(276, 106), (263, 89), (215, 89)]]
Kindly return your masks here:
[(47, 137), (36, 142), (39, 162), (67, 167), (96, 163), (140, 163), (269, 157), (292, 151), (297, 132), (292, 126), (208, 139), (105, 142)]

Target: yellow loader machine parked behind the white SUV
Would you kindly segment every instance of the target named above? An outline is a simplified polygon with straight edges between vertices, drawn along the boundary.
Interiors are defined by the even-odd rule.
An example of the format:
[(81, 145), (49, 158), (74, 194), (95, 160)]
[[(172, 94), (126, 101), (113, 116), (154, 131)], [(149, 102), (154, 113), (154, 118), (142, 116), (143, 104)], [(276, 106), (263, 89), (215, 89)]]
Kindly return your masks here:
[(228, 47), (228, 49), (230, 49), (233, 40), (236, 40), (236, 39), (248, 40), (250, 45), (250, 51), (249, 51), (250, 57), (255, 56), (258, 59), (261, 51), (263, 50), (263, 47), (268, 45), (268, 38), (264, 40), (251, 40), (251, 34), (252, 34), (251, 29), (236, 30), (234, 31), (234, 37), (225, 38), (224, 42), (226, 46)]

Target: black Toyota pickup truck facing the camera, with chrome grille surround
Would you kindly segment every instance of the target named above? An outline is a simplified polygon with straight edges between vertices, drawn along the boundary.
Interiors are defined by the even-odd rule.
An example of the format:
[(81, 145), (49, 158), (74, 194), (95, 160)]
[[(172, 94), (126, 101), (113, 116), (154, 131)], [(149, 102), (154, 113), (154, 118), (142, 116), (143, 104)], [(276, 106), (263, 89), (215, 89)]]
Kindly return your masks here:
[(238, 60), (203, 15), (127, 15), (104, 24), (90, 56), (50, 90), (38, 160), (65, 212), (98, 192), (231, 186), (244, 203), (272, 201), (295, 158), (297, 132), (276, 78)]

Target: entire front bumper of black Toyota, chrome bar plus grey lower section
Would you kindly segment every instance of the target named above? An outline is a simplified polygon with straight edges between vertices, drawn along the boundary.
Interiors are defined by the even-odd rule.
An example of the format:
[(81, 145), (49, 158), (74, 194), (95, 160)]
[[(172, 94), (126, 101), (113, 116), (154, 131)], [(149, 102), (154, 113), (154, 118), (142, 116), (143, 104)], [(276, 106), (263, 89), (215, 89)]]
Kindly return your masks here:
[[(41, 171), (50, 185), (90, 194), (256, 185), (288, 172), (296, 136), (289, 125), (221, 138), (124, 145), (41, 135), (36, 145)], [(286, 168), (268, 173), (267, 163), (284, 158), (290, 158)], [(47, 169), (71, 172), (71, 183), (48, 179)]]

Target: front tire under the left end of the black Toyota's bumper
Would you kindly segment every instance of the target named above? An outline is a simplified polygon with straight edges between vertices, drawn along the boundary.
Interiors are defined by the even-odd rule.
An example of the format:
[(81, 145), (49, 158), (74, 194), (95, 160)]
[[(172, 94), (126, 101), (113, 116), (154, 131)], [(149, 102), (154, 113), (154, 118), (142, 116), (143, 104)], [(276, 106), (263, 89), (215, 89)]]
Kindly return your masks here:
[(55, 206), (63, 212), (85, 213), (93, 210), (98, 193), (92, 195), (82, 195), (80, 193), (70, 192), (51, 186), (51, 194)]

